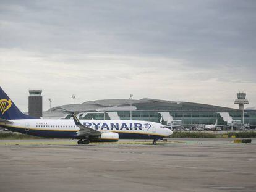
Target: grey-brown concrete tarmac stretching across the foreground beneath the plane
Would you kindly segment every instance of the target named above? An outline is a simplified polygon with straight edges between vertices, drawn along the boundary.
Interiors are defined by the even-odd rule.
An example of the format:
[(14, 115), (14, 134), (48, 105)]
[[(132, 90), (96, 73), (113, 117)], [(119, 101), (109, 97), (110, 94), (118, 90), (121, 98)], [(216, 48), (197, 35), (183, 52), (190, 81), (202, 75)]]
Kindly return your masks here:
[(255, 141), (0, 140), (0, 191), (256, 191)]

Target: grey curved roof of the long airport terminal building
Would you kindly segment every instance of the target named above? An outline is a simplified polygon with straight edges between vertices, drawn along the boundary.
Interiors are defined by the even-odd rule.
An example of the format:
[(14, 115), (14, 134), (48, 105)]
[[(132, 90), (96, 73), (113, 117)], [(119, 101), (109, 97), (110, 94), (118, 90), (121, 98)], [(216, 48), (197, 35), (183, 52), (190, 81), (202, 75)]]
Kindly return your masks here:
[[(75, 104), (75, 112), (98, 112), (98, 111), (129, 111), (130, 101), (132, 101), (132, 110), (148, 111), (170, 111), (170, 110), (218, 110), (227, 111), (233, 108), (200, 104), (194, 102), (176, 102), (160, 99), (103, 99), (96, 101), (87, 101), (82, 104)], [(53, 107), (51, 112), (70, 113), (74, 109), (73, 104)], [(49, 112), (46, 111), (46, 112)]]

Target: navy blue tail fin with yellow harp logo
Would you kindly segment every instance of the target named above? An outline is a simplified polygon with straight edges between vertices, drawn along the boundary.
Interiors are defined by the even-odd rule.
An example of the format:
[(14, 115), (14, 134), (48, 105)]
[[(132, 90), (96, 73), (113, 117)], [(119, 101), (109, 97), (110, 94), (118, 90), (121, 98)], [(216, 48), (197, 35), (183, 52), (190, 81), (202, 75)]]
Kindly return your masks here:
[(0, 87), (0, 118), (1, 119), (35, 119), (29, 115), (23, 114), (14, 102), (4, 93)]

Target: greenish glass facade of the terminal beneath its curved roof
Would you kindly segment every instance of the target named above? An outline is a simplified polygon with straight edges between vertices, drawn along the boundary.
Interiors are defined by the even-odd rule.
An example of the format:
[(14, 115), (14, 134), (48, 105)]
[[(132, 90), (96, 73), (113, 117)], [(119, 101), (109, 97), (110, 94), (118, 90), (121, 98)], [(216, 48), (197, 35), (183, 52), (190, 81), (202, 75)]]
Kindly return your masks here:
[[(113, 112), (113, 111), (111, 111)], [(200, 110), (171, 110), (171, 111), (132, 111), (132, 120), (147, 120), (151, 122), (160, 122), (160, 112), (169, 112), (173, 120), (181, 120), (183, 124), (215, 124), (218, 119), (218, 125), (227, 125), (223, 120), (220, 112), (228, 112), (233, 120), (242, 122), (242, 111), (200, 111)], [(121, 120), (130, 120), (130, 111), (117, 111)], [(80, 119), (110, 119), (108, 112), (88, 112), (87, 115)], [(166, 123), (166, 122), (165, 122)], [(256, 111), (244, 111), (244, 123), (256, 126)]]

